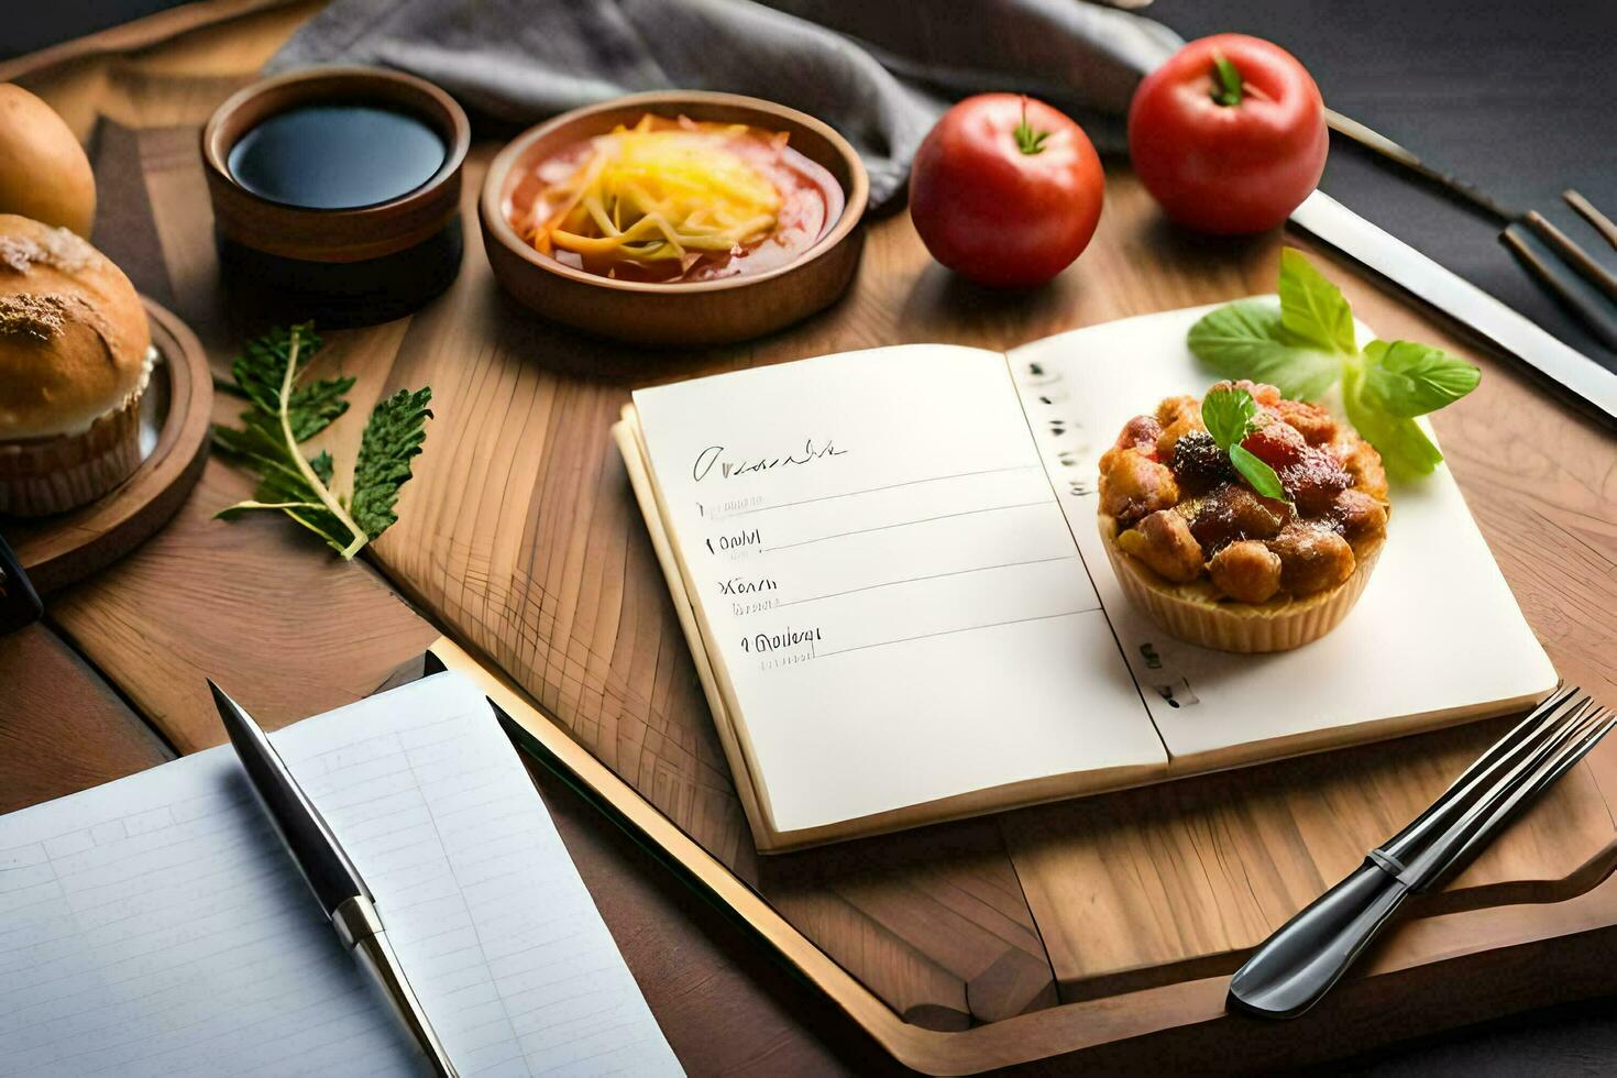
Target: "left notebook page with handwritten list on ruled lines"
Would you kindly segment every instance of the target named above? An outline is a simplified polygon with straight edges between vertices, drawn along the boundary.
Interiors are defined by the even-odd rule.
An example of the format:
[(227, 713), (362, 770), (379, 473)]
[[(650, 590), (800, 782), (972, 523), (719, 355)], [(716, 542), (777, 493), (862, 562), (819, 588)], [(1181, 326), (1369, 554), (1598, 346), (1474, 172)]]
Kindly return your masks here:
[(773, 824), (1166, 763), (998, 352), (635, 393)]

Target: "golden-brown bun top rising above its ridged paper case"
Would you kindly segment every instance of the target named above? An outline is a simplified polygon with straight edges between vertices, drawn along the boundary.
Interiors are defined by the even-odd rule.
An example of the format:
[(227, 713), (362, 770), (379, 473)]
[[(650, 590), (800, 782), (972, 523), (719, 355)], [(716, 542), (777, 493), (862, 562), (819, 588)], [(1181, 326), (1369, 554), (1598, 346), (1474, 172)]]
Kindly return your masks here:
[(0, 213), (0, 441), (84, 432), (146, 385), (129, 278), (65, 228)]

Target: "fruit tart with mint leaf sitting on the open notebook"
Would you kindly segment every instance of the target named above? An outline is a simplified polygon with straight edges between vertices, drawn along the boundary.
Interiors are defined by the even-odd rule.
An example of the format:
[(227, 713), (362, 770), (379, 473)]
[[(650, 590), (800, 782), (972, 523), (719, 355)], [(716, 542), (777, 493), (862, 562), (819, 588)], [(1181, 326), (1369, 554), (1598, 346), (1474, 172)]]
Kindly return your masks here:
[(1387, 511), (1374, 446), (1269, 385), (1167, 398), (1101, 457), (1100, 530), (1124, 593), (1224, 651), (1331, 632), (1370, 580)]

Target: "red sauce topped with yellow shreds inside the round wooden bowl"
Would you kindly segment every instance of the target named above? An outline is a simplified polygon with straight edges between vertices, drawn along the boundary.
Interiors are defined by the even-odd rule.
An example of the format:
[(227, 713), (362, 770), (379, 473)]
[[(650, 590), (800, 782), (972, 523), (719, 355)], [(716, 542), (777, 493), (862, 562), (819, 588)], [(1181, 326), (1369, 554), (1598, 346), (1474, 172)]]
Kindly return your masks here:
[(784, 267), (844, 204), (836, 178), (791, 149), (786, 133), (647, 115), (632, 131), (581, 139), (529, 166), (505, 215), (563, 265), (684, 283)]

